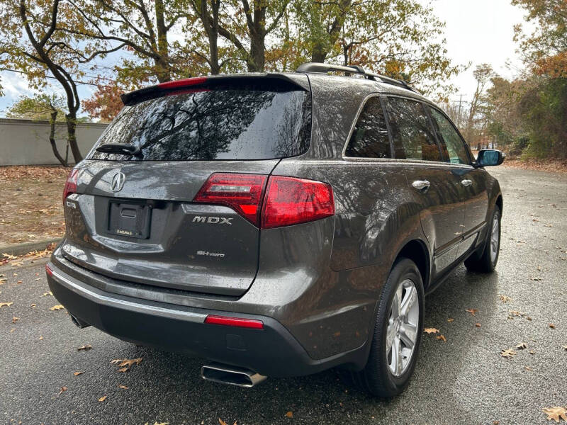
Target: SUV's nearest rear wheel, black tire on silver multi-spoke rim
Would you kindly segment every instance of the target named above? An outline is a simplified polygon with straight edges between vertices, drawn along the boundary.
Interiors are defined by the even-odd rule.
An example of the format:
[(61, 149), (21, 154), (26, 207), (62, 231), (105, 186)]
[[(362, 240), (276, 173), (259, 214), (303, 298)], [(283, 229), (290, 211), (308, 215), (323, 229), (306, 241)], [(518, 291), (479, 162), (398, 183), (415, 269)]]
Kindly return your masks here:
[[(395, 319), (396, 305), (403, 306), (406, 297), (408, 300), (411, 298), (413, 302), (407, 308), (405, 317), (403, 311), (400, 311), (403, 309), (399, 309), (397, 311), (400, 315)], [(368, 361), (363, 370), (352, 373), (354, 382), (376, 397), (389, 398), (403, 392), (410, 383), (417, 361), (423, 314), (424, 292), (421, 273), (410, 259), (398, 259), (386, 280), (378, 302)], [(408, 341), (413, 341), (410, 352), (408, 352), (410, 349)], [(395, 352), (399, 352), (400, 356), (394, 358)]]

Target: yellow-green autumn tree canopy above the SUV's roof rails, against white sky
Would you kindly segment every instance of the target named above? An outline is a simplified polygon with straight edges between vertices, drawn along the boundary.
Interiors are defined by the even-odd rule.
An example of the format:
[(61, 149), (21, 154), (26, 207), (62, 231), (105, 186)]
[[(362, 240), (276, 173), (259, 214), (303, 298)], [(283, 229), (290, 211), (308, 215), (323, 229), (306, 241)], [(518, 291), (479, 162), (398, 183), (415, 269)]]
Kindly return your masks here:
[(295, 10), (313, 62), (361, 65), (445, 99), (442, 81), (464, 69), (447, 57), (444, 23), (418, 1), (298, 0)]

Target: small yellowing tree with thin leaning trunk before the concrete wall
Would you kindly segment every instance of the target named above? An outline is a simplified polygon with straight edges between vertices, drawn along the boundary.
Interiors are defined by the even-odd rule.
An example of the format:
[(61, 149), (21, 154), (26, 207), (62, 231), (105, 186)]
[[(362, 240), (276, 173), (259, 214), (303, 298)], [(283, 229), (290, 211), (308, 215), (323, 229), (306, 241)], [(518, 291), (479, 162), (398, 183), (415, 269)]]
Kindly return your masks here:
[[(55, 144), (55, 125), (57, 121), (62, 120), (64, 115), (65, 101), (63, 98), (47, 94), (38, 94), (34, 97), (23, 96), (16, 101), (8, 111), (6, 116), (8, 118), (23, 118), (28, 120), (49, 120), (50, 133), (49, 142), (53, 154), (63, 166), (67, 166), (67, 154), (65, 158), (61, 156), (57, 145)], [(63, 118), (64, 119), (64, 118)]]

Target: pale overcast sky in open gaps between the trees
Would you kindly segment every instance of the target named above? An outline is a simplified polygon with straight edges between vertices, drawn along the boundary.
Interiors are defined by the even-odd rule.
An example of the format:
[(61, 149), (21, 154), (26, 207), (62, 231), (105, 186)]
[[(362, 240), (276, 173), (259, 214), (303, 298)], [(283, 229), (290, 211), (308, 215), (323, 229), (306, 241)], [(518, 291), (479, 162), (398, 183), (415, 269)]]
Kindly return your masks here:
[[(422, 0), (427, 3), (427, 0)], [(522, 23), (524, 11), (510, 5), (510, 0), (432, 0), (434, 13), (447, 24), (445, 35), (449, 57), (455, 64), (471, 67), (452, 82), (464, 94), (463, 100), (470, 99), (475, 90), (473, 69), (477, 64), (488, 63), (503, 77), (515, 77), (515, 71), (507, 69), (506, 62), (521, 67), (517, 45), (512, 40), (513, 26)], [(13, 72), (0, 72), (5, 96), (0, 98), (0, 115), (4, 115), (18, 96), (32, 94), (26, 79)], [(47, 91), (57, 89), (54, 85)], [(92, 87), (80, 86), (82, 98), (88, 98)], [(452, 96), (456, 101), (459, 96)]]

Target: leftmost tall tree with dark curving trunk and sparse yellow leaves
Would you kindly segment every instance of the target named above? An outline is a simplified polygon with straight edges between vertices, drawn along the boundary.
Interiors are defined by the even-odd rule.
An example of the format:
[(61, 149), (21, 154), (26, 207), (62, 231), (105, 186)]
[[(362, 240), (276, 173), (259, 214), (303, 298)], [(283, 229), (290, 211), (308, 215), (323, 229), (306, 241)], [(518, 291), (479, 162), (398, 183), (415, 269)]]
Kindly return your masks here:
[[(80, 108), (77, 82), (84, 73), (79, 64), (89, 62), (99, 52), (89, 52), (84, 44), (82, 52), (76, 46), (84, 40), (71, 38), (58, 29), (67, 4), (60, 0), (5, 0), (0, 4), (0, 65), (27, 75), (35, 88), (47, 84), (52, 75), (63, 89), (67, 113), (67, 140), (75, 162), (82, 160), (77, 145), (77, 112)], [(84, 42), (86, 43), (86, 42)]]

